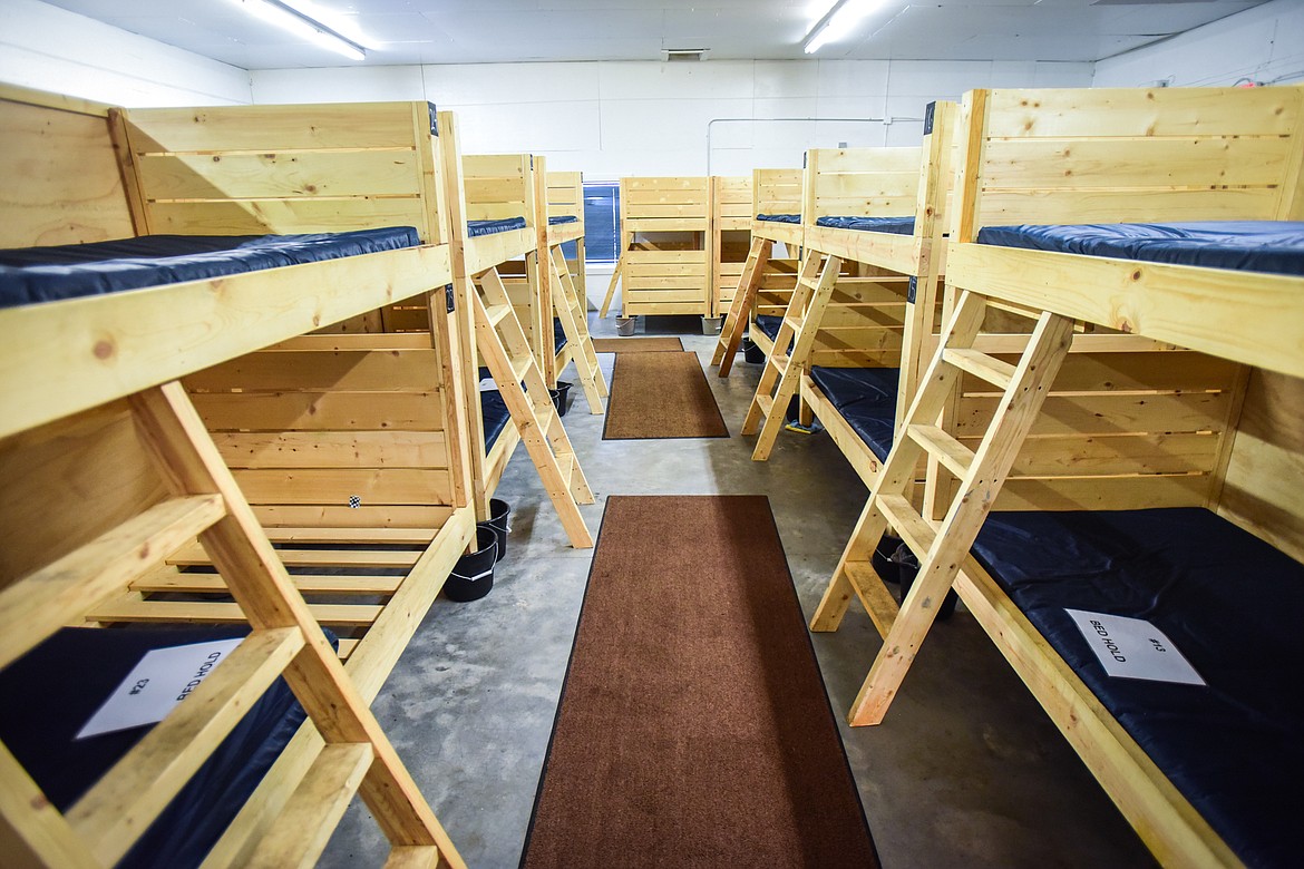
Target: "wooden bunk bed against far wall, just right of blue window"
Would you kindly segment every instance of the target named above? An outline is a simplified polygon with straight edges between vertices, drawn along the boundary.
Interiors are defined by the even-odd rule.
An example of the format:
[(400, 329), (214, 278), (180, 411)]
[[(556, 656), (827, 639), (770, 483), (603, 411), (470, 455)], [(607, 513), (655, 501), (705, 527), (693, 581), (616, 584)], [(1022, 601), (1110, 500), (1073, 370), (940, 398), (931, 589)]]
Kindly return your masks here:
[(711, 317), (711, 180), (621, 178), (619, 250), (600, 317), (606, 317), (618, 281), (622, 319)]

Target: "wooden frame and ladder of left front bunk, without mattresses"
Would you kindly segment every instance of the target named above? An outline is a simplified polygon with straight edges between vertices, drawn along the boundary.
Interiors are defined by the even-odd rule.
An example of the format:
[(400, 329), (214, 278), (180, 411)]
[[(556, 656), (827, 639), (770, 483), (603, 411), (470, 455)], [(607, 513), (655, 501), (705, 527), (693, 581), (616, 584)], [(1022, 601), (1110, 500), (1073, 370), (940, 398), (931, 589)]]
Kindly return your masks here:
[[(7, 245), (146, 232), (262, 235), (395, 224), (417, 227), (425, 242), (0, 310), (0, 327), (12, 337), (0, 363), (0, 468), (14, 495), (3, 508), (0, 545), (0, 615), (12, 628), (4, 663), (57, 627), (87, 618), (95, 624), (248, 619), (254, 629), (240, 648), (249, 649), (245, 664), (228, 663), (214, 677), (219, 681), (205, 681), (192, 702), (155, 727), (68, 816), (43, 803), (26, 773), (0, 752), (0, 838), (7, 853), (34, 864), (115, 862), (284, 668), (310, 720), (210, 864), (312, 861), (361, 787), (395, 848), (394, 859), (438, 857), (462, 865), (368, 709), (473, 533), (466, 431), (447, 416), (452, 404), (445, 397), (459, 367), (443, 340), (450, 331), (437, 330), (424, 345), (425, 354), (438, 360), (428, 383), (439, 397), (428, 426), (437, 436), (422, 444), (417, 464), (443, 482), (439, 500), (417, 502), (419, 519), (386, 520), (385, 508), (348, 515), (347, 498), (336, 507), (326, 491), (359, 483), (331, 478), (349, 473), (339, 456), (347, 447), (319, 427), (300, 430), (288, 421), (295, 413), (286, 410), (295, 400), (275, 401), (278, 410), (267, 405), (258, 433), (239, 446), (224, 439), (219, 449), (177, 383), (215, 383), (223, 370), (259, 384), (288, 380), (334, 417), (339, 393), (329, 377), (299, 363), (270, 373), (259, 367), (263, 354), (257, 350), (314, 340), (296, 336), (333, 323), (374, 323), (378, 309), (407, 297), (428, 296), (443, 310), (450, 257), (446, 218), (434, 195), (439, 139), (432, 135), (429, 107), (123, 112), (10, 87), (0, 98), (0, 160), (16, 162), (4, 168), (7, 185), (17, 185), (3, 205)], [(352, 336), (323, 340), (343, 337)], [(295, 354), (283, 352), (283, 358)], [(359, 369), (366, 367), (363, 360)], [(372, 369), (349, 377), (374, 383), (385, 374)], [(304, 409), (297, 403), (299, 418)], [(357, 443), (381, 464), (411, 451), (400, 439), (365, 431), (357, 433)], [(322, 457), (305, 463), (287, 456), (301, 448)], [(250, 461), (265, 466), (233, 476), (224, 457), (237, 455), (256, 456)], [(273, 470), (286, 466), (296, 470)], [(313, 479), (304, 482), (308, 477)], [(201, 503), (207, 515), (194, 509)], [(275, 526), (273, 535), (286, 542), (329, 542), (334, 551), (344, 541), (374, 545), (391, 530), (387, 521), (412, 538), (416, 555), (406, 576), (369, 589), (381, 601), (370, 607), (306, 605), (262, 529)], [(404, 526), (424, 530), (413, 537)], [(149, 597), (156, 585), (185, 576), (162, 562), (170, 552), (190, 551), (188, 541), (196, 535), (205, 560), (211, 556), (228, 580), (224, 590), (239, 602), (220, 612), (203, 602)], [(218, 582), (214, 575), (203, 581)], [(317, 590), (318, 581), (304, 585)], [(346, 578), (333, 590), (359, 593)], [(155, 603), (158, 614), (143, 616)], [(319, 624), (333, 624), (334, 615), (349, 610), (343, 621), (369, 629), (344, 644), (342, 666)], [(273, 650), (273, 638), (279, 651), (257, 663), (259, 649)], [(335, 796), (323, 801), (319, 788), (327, 786)]]

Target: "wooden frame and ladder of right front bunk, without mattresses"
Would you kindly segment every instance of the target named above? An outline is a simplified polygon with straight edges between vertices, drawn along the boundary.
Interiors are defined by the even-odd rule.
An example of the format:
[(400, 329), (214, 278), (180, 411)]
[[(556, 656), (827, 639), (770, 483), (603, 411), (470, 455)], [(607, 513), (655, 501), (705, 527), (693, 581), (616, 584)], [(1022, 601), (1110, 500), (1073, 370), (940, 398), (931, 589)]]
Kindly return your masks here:
[[(987, 430), (983, 446), (968, 453), (975, 456), (965, 482), (969, 504), (994, 502), (998, 509), (1200, 506), (1304, 559), (1299, 500), (1304, 279), (975, 242), (985, 225), (1299, 220), (1304, 216), (1301, 134), (1301, 87), (998, 90), (966, 95), (960, 199), (947, 271), (956, 311), (925, 382), (934, 377), (957, 379), (940, 374), (951, 365), (948, 357), (970, 373), (998, 373), (1000, 366), (987, 360), (999, 348), (978, 352), (960, 349), (962, 341), (951, 344), (957, 335), (962, 339), (978, 331), (985, 309), (1026, 313), (1039, 323), (1034, 337), (1025, 339), (1029, 349), (1012, 374), (1015, 388), (1025, 383), (1025, 390), (1031, 390), (1026, 395), (1033, 397), (1007, 397), (1008, 410), (987, 409), (966, 417), (956, 410), (957, 401), (971, 400), (965, 397), (964, 386), (945, 400), (926, 387), (911, 409), (908, 422), (923, 418), (915, 410), (925, 417), (932, 406), (945, 410), (945, 434), (952, 440), (964, 436), (973, 420), (982, 421), (978, 430)], [(1080, 332), (1073, 339), (1074, 321), (1097, 332)], [(1118, 422), (1132, 420), (1123, 430), (1125, 438), (1097, 439), (1097, 447), (1115, 447), (1112, 455), (1089, 452), (1090, 438), (1081, 448), (1045, 449), (1037, 426), (1043, 426), (1042, 435), (1054, 434), (1055, 427), (1073, 434), (1090, 414), (1086, 408), (1088, 413), (1074, 416), (1082, 409), (1076, 399), (1051, 409), (1054, 390), (1065, 377), (1089, 374), (1082, 366), (1074, 373), (1072, 358), (1064, 361), (1068, 345), (1138, 336), (1189, 350), (1142, 354), (1134, 369), (1121, 374), (1107, 365), (1098, 367), (1098, 388), (1132, 405), (1131, 410), (1116, 410)], [(1084, 366), (1093, 362), (1099, 360), (1086, 357)], [(1052, 397), (1038, 416), (1041, 401), (1035, 396), (1059, 365), (1064, 367)], [(1159, 395), (1146, 395), (1153, 392)], [(934, 444), (951, 443), (935, 433), (918, 434)], [(922, 567), (910, 595), (884, 631), (883, 651), (853, 707), (853, 723), (882, 719), (947, 586), (955, 581), (968, 608), (1159, 862), (1239, 865), (1236, 855), (968, 555), (983, 511), (957, 500), (939, 524), (940, 511), (934, 509), (930, 521), (911, 519), (901, 509), (896, 492), (901, 491), (902, 463), (909, 459), (913, 464), (906, 449), (913, 439), (902, 438), (902, 455), (898, 457), (895, 448), (889, 456), (812, 621), (812, 629), (835, 629), (853, 594), (862, 601), (878, 594), (872, 588), (876, 577), (862, 565), (867, 564), (871, 538), (891, 516), (911, 548), (923, 554)], [(947, 447), (930, 452), (949, 452), (940, 464), (964, 469), (964, 451)], [(1076, 492), (1068, 481), (1059, 491), (1020, 492), (1017, 477), (1001, 487), (1011, 470), (1018, 473), (1038, 459), (1050, 463), (1052, 455), (1065, 476), (1077, 477)], [(930, 468), (930, 496), (952, 489), (938, 464)], [(982, 476), (978, 486), (971, 485), (975, 474)]]

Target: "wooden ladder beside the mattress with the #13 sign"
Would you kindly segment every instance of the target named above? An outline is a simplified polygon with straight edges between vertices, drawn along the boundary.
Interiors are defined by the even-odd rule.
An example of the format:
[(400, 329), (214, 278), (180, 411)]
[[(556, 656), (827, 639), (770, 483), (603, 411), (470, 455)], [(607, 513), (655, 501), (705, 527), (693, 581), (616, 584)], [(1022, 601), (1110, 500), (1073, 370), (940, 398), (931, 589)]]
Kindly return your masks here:
[[(901, 434), (883, 465), (878, 487), (870, 494), (811, 619), (811, 631), (836, 631), (854, 594), (884, 637), (852, 706), (849, 720), (853, 726), (883, 720), (983, 519), (1000, 494), (1073, 337), (1073, 321), (1050, 311), (1035, 314), (1037, 326), (1022, 357), (1017, 365), (1009, 365), (973, 349), (986, 310), (983, 297), (968, 291), (961, 294)], [(936, 425), (961, 388), (964, 374), (978, 377), (1003, 392), (977, 451)], [(925, 520), (910, 500), (909, 489), (923, 452), (961, 481), (940, 524)], [(919, 559), (918, 578), (900, 611), (870, 564), (874, 547), (888, 528), (896, 530)]]

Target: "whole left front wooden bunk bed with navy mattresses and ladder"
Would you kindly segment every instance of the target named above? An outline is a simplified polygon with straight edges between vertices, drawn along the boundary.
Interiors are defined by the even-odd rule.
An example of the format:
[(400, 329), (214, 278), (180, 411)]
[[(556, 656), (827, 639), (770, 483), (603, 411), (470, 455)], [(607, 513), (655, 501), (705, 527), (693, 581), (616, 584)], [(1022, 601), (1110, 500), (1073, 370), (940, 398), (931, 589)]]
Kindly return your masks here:
[[(447, 238), (422, 172), (437, 164), (430, 108), (126, 113), (7, 87), (0, 113), (0, 224), (10, 248), (0, 469), (14, 495), (3, 508), (0, 615), (10, 629), (0, 679), (27, 693), (43, 685), (39, 701), (10, 704), (4, 715), (8, 859), (310, 862), (360, 792), (393, 860), (462, 865), (368, 702), (473, 532), (464, 429), (443, 421), (442, 459), (428, 451), (447, 500), (422, 516), (417, 564), (376, 591), (382, 603), (364, 620), (370, 631), (344, 642), (322, 631), (331, 619), (305, 603), (262, 524), (329, 529), (318, 533), (335, 548), (353, 532), (374, 542), (368, 532), (378, 517), (331, 521), (323, 506), (287, 522), (292, 511), (250, 506), (179, 382), (331, 323), (374, 319), (398, 298), (442, 302)], [(284, 149), (299, 152), (287, 159)], [(399, 168), (377, 169), (396, 152), (406, 155)], [(372, 172), (355, 176), (349, 165)], [(372, 185), (391, 195), (374, 199)], [(407, 229), (391, 249), (353, 244), (352, 231), (393, 223)], [(146, 235), (159, 232), (181, 238)], [(236, 233), (261, 238), (232, 249)], [(446, 347), (428, 348), (455, 363)], [(265, 481), (261, 490), (273, 487)], [(136, 620), (120, 618), (126, 603), (170, 610), (159, 621), (209, 621), (207, 612), (194, 615), (202, 602), (153, 602), (145, 591), (179, 576), (166, 559), (194, 539), (232, 599), (214, 620), (236, 627), (64, 627)], [(67, 692), (55, 685), (81, 680), (51, 672), (82, 672), (95, 658), (94, 684), (112, 689), (147, 650), (218, 637), (243, 640), (160, 723), (73, 739), (81, 722), (69, 719)], [(76, 760), (61, 769), (47, 762), (59, 757)]]

